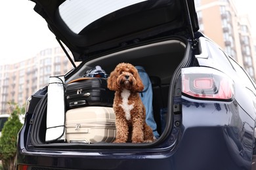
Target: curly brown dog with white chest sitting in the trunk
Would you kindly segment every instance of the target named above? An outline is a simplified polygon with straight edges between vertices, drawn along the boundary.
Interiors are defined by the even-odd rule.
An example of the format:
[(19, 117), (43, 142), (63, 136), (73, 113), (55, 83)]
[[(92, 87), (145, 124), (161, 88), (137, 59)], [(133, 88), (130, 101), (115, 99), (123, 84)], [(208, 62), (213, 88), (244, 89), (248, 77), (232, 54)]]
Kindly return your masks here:
[(116, 91), (116, 140), (114, 143), (152, 143), (153, 131), (146, 124), (146, 109), (139, 92), (144, 88), (137, 69), (130, 63), (119, 63), (110, 73), (108, 88)]

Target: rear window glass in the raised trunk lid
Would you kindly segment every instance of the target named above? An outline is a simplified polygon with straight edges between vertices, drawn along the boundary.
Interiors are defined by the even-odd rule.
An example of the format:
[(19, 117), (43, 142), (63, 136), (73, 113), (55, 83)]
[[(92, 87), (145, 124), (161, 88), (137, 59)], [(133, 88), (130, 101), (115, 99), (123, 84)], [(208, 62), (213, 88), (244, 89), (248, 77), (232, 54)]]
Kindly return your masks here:
[(79, 33), (84, 27), (95, 22), (102, 16), (106, 16), (116, 10), (148, 0), (125, 0), (125, 1), (91, 1), (73, 0), (65, 1), (58, 8), (60, 17), (65, 24), (74, 32)]

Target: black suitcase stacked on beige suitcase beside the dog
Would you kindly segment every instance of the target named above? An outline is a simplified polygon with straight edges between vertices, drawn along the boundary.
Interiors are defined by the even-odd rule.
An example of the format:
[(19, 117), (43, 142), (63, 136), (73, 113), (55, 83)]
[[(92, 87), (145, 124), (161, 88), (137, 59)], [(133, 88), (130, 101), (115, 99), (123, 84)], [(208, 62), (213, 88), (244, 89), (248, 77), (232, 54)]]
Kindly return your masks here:
[[(114, 92), (108, 90), (106, 74), (102, 74), (102, 69), (96, 66), (96, 70), (101, 72), (91, 74), (91, 71), (92, 76), (87, 75), (66, 84), (65, 142), (111, 143), (116, 137), (112, 108)], [(48, 114), (53, 113), (47, 112)]]

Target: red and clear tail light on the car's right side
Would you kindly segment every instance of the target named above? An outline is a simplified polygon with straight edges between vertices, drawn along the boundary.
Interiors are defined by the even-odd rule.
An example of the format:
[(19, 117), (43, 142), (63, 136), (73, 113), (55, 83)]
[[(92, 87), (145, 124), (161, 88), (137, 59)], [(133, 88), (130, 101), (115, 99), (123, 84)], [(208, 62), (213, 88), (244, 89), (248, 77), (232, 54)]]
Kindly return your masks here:
[(181, 70), (182, 94), (196, 99), (232, 101), (234, 81), (221, 71), (208, 67)]

